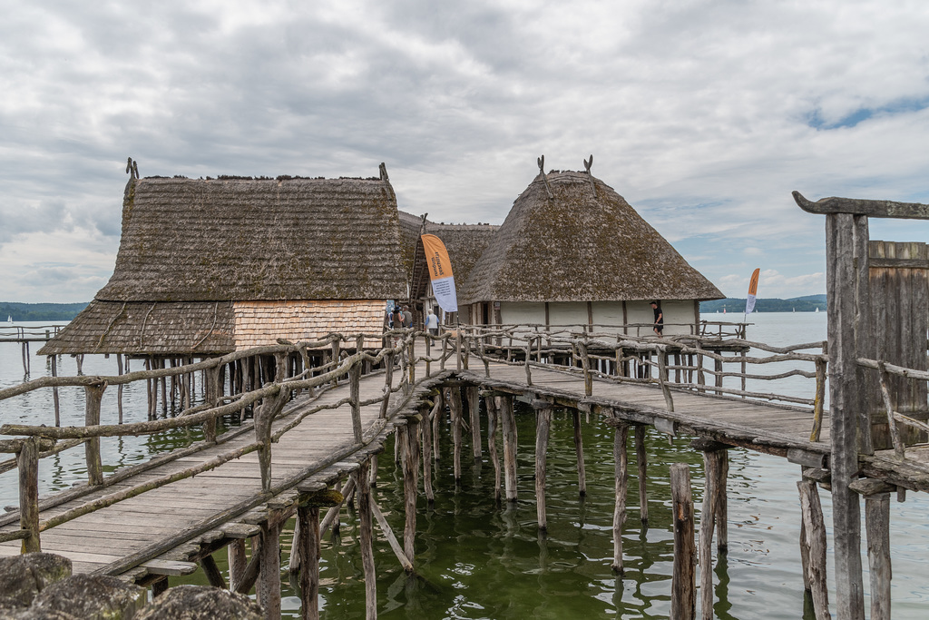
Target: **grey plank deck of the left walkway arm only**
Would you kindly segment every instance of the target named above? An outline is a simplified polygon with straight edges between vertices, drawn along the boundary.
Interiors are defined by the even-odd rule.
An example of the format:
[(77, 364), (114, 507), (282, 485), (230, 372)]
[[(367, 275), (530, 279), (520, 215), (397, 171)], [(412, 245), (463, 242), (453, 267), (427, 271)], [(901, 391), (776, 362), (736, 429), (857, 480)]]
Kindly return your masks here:
[[(383, 389), (383, 373), (364, 376), (360, 381), (360, 399), (363, 402), (381, 397), (384, 393)], [(418, 390), (422, 389), (423, 386), (419, 386)], [(395, 392), (390, 399), (391, 413), (388, 417), (393, 417), (395, 421), (402, 423), (403, 418), (398, 413), (407, 402), (416, 397), (418, 390), (413, 390), (409, 396), (404, 396), (400, 391)], [(346, 399), (347, 396), (348, 383), (343, 381), (338, 387), (328, 389), (316, 398), (301, 397), (288, 405), (288, 409), (285, 410), (286, 415), (275, 421), (272, 433), (292, 421), (294, 416), (307, 411), (308, 408), (333, 404)], [(379, 426), (382, 426), (376, 425), (380, 409), (380, 402), (361, 407), (362, 427), (365, 433), (376, 431)], [(383, 442), (392, 429), (393, 427), (387, 424), (377, 433), (373, 443)], [(69, 509), (131, 488), (139, 483), (202, 464), (216, 455), (229, 453), (252, 442), (255, 442), (255, 433), (246, 429), (227, 442), (205, 448), (193, 455), (177, 458), (125, 481), (99, 489), (55, 508), (43, 510), (40, 514), (40, 521), (46, 521)], [(325, 462), (327, 457), (346, 451), (353, 444), (355, 444), (355, 439), (350, 405), (342, 404), (336, 409), (323, 409), (307, 416), (294, 429), (282, 435), (279, 442), (272, 444), (272, 487), (288, 481), (308, 478), (308, 466)], [(356, 467), (357, 464), (352, 462), (350, 456), (347, 455), (344, 460), (338, 459), (331, 465), (319, 468), (316, 480), (334, 481), (344, 475), (347, 470)], [(294, 486), (295, 483), (292, 488)], [(212, 516), (236, 506), (242, 506), (243, 503), (247, 504), (250, 498), (257, 500), (254, 502), (254, 507), (242, 509), (239, 515), (233, 515), (225, 521), (240, 524), (263, 521), (267, 518), (268, 497), (262, 497), (261, 491), (258, 454), (252, 452), (192, 478), (171, 482), (46, 530), (41, 534), (42, 550), (71, 559), (75, 574), (105, 571), (113, 562), (123, 561), (146, 548), (155, 547), (165, 539), (181, 534)], [(218, 524), (216, 529), (211, 534), (207, 534), (205, 538), (220, 537), (224, 524)], [(17, 529), (19, 529), (19, 521), (2, 528), (3, 531)], [(242, 535), (236, 533), (227, 537), (241, 538)], [(204, 537), (203, 535), (191, 536), (191, 540), (203, 542)], [(191, 555), (196, 549), (189, 548), (187, 551), (187, 555)], [(19, 553), (19, 541), (0, 544), (0, 556)], [(163, 560), (188, 559), (184, 557), (185, 553), (160, 555), (163, 556)], [(157, 571), (158, 569), (155, 568), (150, 572), (158, 574)]]

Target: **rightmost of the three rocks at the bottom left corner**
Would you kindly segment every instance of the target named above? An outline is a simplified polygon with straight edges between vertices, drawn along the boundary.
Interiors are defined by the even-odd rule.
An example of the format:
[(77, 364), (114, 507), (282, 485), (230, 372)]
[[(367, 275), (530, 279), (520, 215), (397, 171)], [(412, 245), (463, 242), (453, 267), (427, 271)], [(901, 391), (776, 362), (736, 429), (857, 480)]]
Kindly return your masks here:
[(218, 587), (177, 586), (150, 604), (137, 620), (262, 620), (261, 607), (244, 594)]

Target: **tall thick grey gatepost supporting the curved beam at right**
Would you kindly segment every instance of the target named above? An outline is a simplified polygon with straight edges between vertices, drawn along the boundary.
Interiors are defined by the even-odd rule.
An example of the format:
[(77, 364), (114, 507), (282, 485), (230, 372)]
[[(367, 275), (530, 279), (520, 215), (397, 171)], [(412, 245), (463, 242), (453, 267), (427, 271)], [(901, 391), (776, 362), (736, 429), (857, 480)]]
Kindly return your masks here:
[[(862, 276), (863, 270), (863, 276)], [(871, 454), (870, 420), (858, 393), (858, 331), (868, 303), (868, 218), (826, 216), (826, 287), (829, 296), (829, 387), (832, 532), (836, 612), (840, 620), (864, 618), (861, 574), (861, 508), (849, 484), (857, 479), (859, 453)], [(859, 309), (862, 310), (859, 313)]]

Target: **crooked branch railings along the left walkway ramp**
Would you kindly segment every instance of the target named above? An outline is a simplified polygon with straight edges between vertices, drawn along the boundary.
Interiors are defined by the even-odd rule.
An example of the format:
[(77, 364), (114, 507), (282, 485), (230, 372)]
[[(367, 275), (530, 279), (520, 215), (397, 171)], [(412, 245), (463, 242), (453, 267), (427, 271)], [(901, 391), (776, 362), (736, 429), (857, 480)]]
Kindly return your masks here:
[[(276, 495), (296, 482), (296, 480), (288, 480), (273, 485), (271, 480), (271, 446), (284, 433), (294, 429), (307, 416), (323, 409), (334, 409), (348, 404), (350, 405), (350, 423), (354, 443), (340, 451), (339, 454), (341, 452), (350, 454), (367, 445), (385, 428), (391, 394), (400, 390), (409, 393), (411, 385), (415, 381), (416, 363), (425, 362), (425, 374), (428, 377), (432, 372), (431, 365), (433, 363), (438, 363), (440, 370), (444, 370), (445, 363), (451, 358), (451, 355), (455, 354), (456, 351), (460, 351), (460, 347), (451, 346), (451, 337), (451, 334), (431, 336), (421, 332), (413, 332), (410, 329), (395, 330), (385, 334), (361, 334), (348, 337), (332, 334), (320, 341), (296, 344), (279, 341), (281, 344), (275, 346), (236, 351), (222, 357), (169, 368), (130, 372), (116, 376), (43, 376), (18, 386), (0, 389), (0, 402), (38, 389), (80, 387), (85, 390), (85, 426), (58, 427), (38, 424), (6, 424), (0, 427), (0, 435), (17, 436), (16, 439), (0, 441), (0, 452), (16, 455), (15, 465), (20, 471), (20, 509), (18, 512), (0, 517), (0, 525), (7, 525), (19, 520), (20, 529), (14, 532), (0, 533), (0, 542), (22, 540), (23, 552), (39, 550), (40, 533), (49, 528), (165, 484), (190, 478), (203, 471), (216, 468), (229, 460), (255, 451), (258, 453), (261, 468), (261, 497), (267, 499)], [(380, 350), (364, 350), (363, 343), (365, 340), (379, 342), (382, 341), (382, 338), (390, 344)], [(419, 358), (415, 357), (417, 340), (425, 340), (425, 355)], [(343, 342), (354, 344), (355, 352), (349, 354), (347, 351), (342, 350), (340, 345)], [(431, 350), (437, 344), (441, 347), (441, 354), (438, 357), (433, 357), (431, 356)], [(311, 366), (307, 351), (320, 349), (333, 350), (332, 362)], [(285, 376), (286, 369), (290, 367), (286, 363), (286, 359), (291, 354), (299, 354), (303, 358), (306, 370), (296, 376)], [(220, 368), (224, 364), (259, 355), (274, 356), (276, 360), (274, 380), (250, 391), (220, 395), (218, 386)], [(399, 365), (400, 371), (399, 382), (396, 386), (394, 385), (395, 362)], [(361, 400), (360, 378), (365, 364), (370, 368), (379, 364), (383, 365), (383, 371), (378, 371), (383, 372), (385, 376), (382, 396)], [(189, 406), (177, 416), (171, 418), (153, 419), (130, 424), (100, 424), (100, 402), (104, 391), (110, 386), (124, 386), (137, 381), (150, 381), (168, 376), (183, 376), (195, 372), (203, 373), (206, 392), (203, 403), (190, 406), (190, 401), (188, 401)], [(310, 395), (314, 395), (318, 393), (317, 390), (331, 389), (343, 380), (347, 380), (349, 384), (347, 398), (330, 404), (317, 404), (307, 407), (297, 416), (294, 416), (294, 419), (288, 420), (281, 428), (272, 432), (272, 423), (281, 416), (294, 394), (306, 390)], [(362, 406), (375, 403), (381, 404), (379, 420), (372, 429), (365, 433), (361, 425), (360, 409)], [(216, 422), (220, 417), (242, 413), (248, 407), (254, 408), (254, 420), (250, 427), (244, 426), (242, 429), (229, 430), (221, 436), (216, 436)], [(104, 477), (99, 438), (148, 435), (168, 429), (183, 429), (194, 426), (203, 428), (203, 442), (171, 453), (155, 456), (147, 463), (120, 469), (110, 476)], [(203, 450), (205, 447), (228, 442), (233, 437), (248, 432), (249, 429), (252, 429), (255, 433), (254, 442), (215, 455), (194, 467), (165, 474), (154, 480), (136, 484), (110, 495), (104, 495), (77, 508), (56, 514), (45, 521), (39, 520), (40, 510), (53, 508), (100, 488), (109, 487), (130, 478), (140, 471), (190, 455)], [(72, 447), (80, 443), (85, 444), (87, 485), (75, 487), (70, 491), (39, 501), (38, 463), (40, 456), (56, 454), (60, 451), (57, 448), (61, 447), (62, 444), (66, 447)]]

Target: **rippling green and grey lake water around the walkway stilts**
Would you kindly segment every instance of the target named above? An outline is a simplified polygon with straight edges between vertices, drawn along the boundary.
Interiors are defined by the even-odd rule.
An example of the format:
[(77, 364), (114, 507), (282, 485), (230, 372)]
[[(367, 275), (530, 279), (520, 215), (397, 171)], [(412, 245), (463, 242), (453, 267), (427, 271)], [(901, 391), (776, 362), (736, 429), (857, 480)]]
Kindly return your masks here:
[[(704, 318), (713, 320), (722, 315)], [(752, 323), (750, 339), (771, 344), (811, 342), (826, 336), (825, 313), (753, 314)], [(44, 361), (37, 363), (37, 360), (33, 360), (33, 376), (45, 372)], [(74, 361), (64, 358), (59, 374), (74, 370)], [(779, 371), (771, 368), (764, 372)], [(88, 356), (85, 373), (114, 374), (115, 360)], [(0, 386), (17, 383), (21, 375), (19, 346), (0, 344)], [(805, 397), (812, 396), (813, 384), (811, 379), (790, 379), (791, 391)], [(750, 383), (749, 388), (755, 389), (755, 386)], [(63, 424), (83, 422), (83, 395), (78, 390), (71, 391), (67, 397), (62, 393)], [(108, 398), (114, 398), (111, 391), (114, 392), (108, 390)], [(126, 405), (126, 421), (144, 419), (143, 399), (143, 390), (133, 394), (127, 390), (127, 402), (133, 400), (137, 404), (132, 408)], [(20, 402), (0, 404), (0, 419), (46, 424), (53, 420), (50, 395), (18, 400)], [(115, 421), (115, 401), (104, 402), (103, 419)], [(677, 462), (691, 466), (698, 519), (702, 496), (702, 460), (688, 447), (689, 438), (678, 437), (669, 444), (660, 433), (648, 435), (648, 531), (644, 531), (638, 521), (635, 453), (631, 452), (628, 517), (623, 534), (626, 572), (618, 577), (609, 566), (612, 559), (613, 430), (595, 418), (584, 425), (587, 496), (581, 499), (577, 492), (570, 416), (556, 412), (548, 454), (549, 531), (540, 535), (532, 497), (535, 422), (531, 411), (517, 410), (517, 424), (520, 498), (515, 506), (507, 506), (505, 502), (504, 506), (495, 505), (493, 468), (489, 460), (485, 460), (481, 468), (466, 466), (460, 486), (455, 487), (451, 473), (451, 432), (447, 425), (443, 428), (436, 502), (427, 506), (425, 497), (421, 497), (419, 503), (416, 576), (409, 578), (404, 574), (383, 539), (379, 538), (376, 543), (380, 617), (667, 617), (673, 560), (669, 466)], [(464, 434), (464, 455), (469, 455), (470, 434)], [(113, 440), (108, 444), (105, 458), (111, 466), (137, 462), (188, 441), (190, 437), (185, 432), (162, 434), (153, 439)], [(395, 532), (401, 532), (402, 480), (391, 455), (392, 444), (388, 443), (386, 455), (380, 459), (375, 493), (387, 520)], [(44, 465), (44, 491), (83, 479), (83, 450), (73, 450), (55, 459)], [(465, 463), (469, 464), (470, 460), (466, 459)], [(797, 543), (799, 466), (735, 448), (730, 450), (729, 472), (729, 551), (722, 558), (714, 558), (716, 617), (812, 618), (805, 608)], [(15, 472), (0, 477), (0, 494), (5, 503), (15, 503)], [(821, 497), (830, 526), (830, 495), (822, 492)], [(905, 503), (891, 505), (895, 618), (925, 617), (929, 585), (922, 578), (922, 571), (926, 570), (925, 557), (929, 550), (927, 510), (929, 501), (921, 494), (910, 494)], [(321, 607), (325, 618), (361, 618), (364, 615), (356, 528), (354, 514), (349, 513), (343, 518), (341, 538), (331, 540), (329, 534), (324, 538)], [(829, 529), (831, 548), (831, 527)], [(284, 540), (286, 561), (287, 535)], [(222, 559), (220, 563), (225, 567)], [(863, 558), (863, 564), (867, 567), (867, 558)], [(831, 575), (831, 552), (829, 571)], [(202, 574), (191, 575), (187, 581), (205, 583)], [(172, 578), (171, 583), (175, 585), (180, 580)], [(868, 589), (866, 574), (865, 591)], [(299, 617), (297, 592), (285, 585), (282, 594), (284, 616)], [(835, 593), (831, 591), (833, 611), (834, 601)]]

